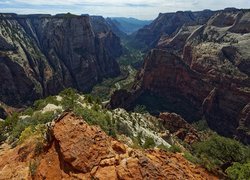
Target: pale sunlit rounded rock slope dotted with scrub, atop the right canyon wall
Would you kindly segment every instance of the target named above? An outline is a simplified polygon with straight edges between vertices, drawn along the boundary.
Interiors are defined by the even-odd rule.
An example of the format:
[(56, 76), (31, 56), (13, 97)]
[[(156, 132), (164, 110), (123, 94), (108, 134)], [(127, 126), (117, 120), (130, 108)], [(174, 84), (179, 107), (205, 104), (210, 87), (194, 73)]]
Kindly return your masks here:
[(240, 10), (217, 13), (206, 26), (198, 28), (186, 41), (184, 61), (203, 74), (224, 74), (230, 79), (248, 78), (249, 33), (230, 32), (232, 27), (241, 26), (239, 22), (250, 14), (248, 11), (242, 13)]

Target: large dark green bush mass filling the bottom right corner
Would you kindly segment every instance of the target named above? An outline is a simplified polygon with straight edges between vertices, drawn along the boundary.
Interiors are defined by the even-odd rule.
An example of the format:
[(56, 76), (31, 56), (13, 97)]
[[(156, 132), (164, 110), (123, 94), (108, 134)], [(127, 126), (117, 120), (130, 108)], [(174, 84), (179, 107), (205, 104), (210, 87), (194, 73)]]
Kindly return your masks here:
[(212, 135), (209, 139), (194, 144), (193, 150), (195, 157), (199, 158), (197, 162), (210, 171), (221, 174), (226, 172), (232, 179), (235, 179), (234, 175), (237, 177), (246, 175), (250, 148), (236, 140)]

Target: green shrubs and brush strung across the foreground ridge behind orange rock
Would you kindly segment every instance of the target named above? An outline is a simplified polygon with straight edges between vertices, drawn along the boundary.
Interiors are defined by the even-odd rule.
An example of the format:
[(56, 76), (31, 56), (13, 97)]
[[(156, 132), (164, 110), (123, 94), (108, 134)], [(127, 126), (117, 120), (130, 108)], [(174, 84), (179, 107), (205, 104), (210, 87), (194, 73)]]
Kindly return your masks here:
[[(62, 109), (44, 111), (44, 107), (53, 104)], [(138, 105), (134, 111), (145, 113), (146, 107)], [(108, 111), (101, 105), (100, 98), (92, 95), (80, 95), (74, 89), (66, 89), (59, 96), (50, 96), (44, 100), (38, 100), (30, 108), (20, 113), (13, 113), (12, 116), (0, 121), (0, 142), (9, 137), (9, 142), (22, 143), (29, 137), (36, 137), (35, 154), (40, 154), (44, 149), (43, 135), (46, 132), (45, 124), (51, 122), (59, 116), (63, 110), (72, 110), (76, 115), (81, 116), (90, 125), (99, 125), (108, 135), (117, 137), (124, 134), (133, 140), (136, 148), (154, 148), (156, 146), (152, 137), (145, 137), (142, 132), (138, 132), (133, 137), (131, 127), (124, 123), (125, 118), (130, 118), (132, 129), (137, 124), (142, 124), (137, 114), (121, 113), (116, 116), (112, 111)], [(193, 124), (200, 132), (207, 131), (207, 124), (204, 120)], [(154, 124), (154, 127), (157, 125)], [(135, 130), (135, 129), (134, 129)], [(144, 135), (144, 136), (143, 136)], [(170, 148), (159, 145), (158, 148), (173, 153), (183, 152), (183, 156), (192, 163), (200, 164), (213, 172), (227, 175), (231, 179), (247, 179), (250, 169), (250, 147), (240, 142), (221, 137), (215, 133), (210, 133), (202, 142), (189, 146), (190, 151), (183, 150), (176, 144)], [(143, 140), (144, 139), (144, 140)], [(181, 142), (179, 142), (181, 143)], [(183, 146), (184, 143), (182, 143)], [(35, 174), (37, 162), (30, 163), (30, 173)]]

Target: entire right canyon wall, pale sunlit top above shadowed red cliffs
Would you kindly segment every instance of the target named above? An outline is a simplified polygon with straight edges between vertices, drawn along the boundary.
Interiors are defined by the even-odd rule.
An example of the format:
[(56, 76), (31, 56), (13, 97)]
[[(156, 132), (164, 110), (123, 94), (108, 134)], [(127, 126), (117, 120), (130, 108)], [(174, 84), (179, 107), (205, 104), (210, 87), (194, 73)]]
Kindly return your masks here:
[(205, 25), (184, 25), (174, 37), (161, 38), (145, 58), (132, 90), (125, 99), (116, 92), (111, 106), (133, 106), (147, 92), (167, 100), (167, 110), (185, 120), (205, 116), (213, 130), (249, 143), (249, 16), (247, 10), (226, 9)]

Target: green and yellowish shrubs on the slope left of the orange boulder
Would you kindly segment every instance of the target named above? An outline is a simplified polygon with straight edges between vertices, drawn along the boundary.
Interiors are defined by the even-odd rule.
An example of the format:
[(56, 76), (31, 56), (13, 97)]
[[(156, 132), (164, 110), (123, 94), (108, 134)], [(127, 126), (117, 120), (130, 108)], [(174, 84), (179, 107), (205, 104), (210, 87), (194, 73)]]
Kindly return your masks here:
[(70, 95), (68, 96), (69, 98), (65, 98), (64, 102), (57, 101), (55, 96), (49, 96), (43, 100), (41, 99), (35, 101), (32, 107), (27, 108), (23, 112), (16, 112), (11, 116), (8, 116), (4, 122), (0, 122), (0, 142), (6, 140), (8, 136), (10, 143), (16, 141), (21, 143), (27, 137), (30, 137), (37, 132), (42, 133), (38, 127), (46, 124), (47, 122), (51, 122), (62, 112), (60, 109), (56, 111), (43, 112), (42, 109), (47, 104), (60, 105), (60, 103), (62, 103), (67, 104), (67, 106), (71, 106), (74, 104), (72, 101), (72, 97), (74, 97), (73, 92), (75, 91), (65, 90), (65, 92), (62, 92), (65, 96)]

